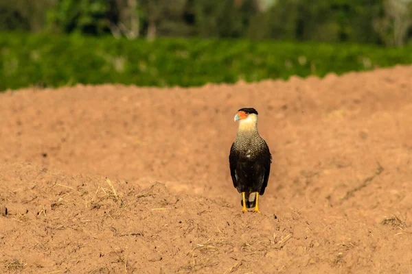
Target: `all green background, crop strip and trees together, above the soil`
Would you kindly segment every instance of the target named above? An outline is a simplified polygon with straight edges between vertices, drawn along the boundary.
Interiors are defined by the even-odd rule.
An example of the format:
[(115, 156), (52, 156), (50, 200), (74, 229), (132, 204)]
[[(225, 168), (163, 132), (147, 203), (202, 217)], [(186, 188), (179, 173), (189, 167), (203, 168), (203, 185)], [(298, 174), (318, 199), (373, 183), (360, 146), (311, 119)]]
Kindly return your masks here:
[(0, 0), (0, 90), (323, 76), (411, 49), (412, 0)]

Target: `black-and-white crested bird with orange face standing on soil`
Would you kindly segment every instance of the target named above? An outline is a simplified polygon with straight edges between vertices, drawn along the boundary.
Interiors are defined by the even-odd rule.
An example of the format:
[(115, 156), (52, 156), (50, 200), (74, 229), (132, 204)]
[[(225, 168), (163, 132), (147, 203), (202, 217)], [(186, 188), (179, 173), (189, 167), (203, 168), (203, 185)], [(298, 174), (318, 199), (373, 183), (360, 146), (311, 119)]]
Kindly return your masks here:
[(233, 186), (241, 194), (242, 212), (253, 208), (260, 213), (259, 195), (264, 195), (271, 173), (272, 155), (258, 132), (258, 111), (241, 108), (235, 115), (239, 121), (236, 139), (229, 153), (229, 169)]

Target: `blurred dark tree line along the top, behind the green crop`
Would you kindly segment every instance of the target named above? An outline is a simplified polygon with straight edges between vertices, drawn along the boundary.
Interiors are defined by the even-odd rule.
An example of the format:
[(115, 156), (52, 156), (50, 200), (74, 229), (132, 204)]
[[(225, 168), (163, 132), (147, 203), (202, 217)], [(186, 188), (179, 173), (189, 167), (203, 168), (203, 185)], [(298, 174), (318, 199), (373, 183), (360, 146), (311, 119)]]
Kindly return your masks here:
[(0, 30), (400, 47), (412, 40), (412, 0), (0, 0)]

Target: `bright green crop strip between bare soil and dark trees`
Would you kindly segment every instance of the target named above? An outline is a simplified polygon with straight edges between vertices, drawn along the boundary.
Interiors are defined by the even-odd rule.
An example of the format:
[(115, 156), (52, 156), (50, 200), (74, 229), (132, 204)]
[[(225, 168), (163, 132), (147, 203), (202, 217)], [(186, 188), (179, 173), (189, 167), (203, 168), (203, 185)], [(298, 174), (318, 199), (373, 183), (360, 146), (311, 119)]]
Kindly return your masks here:
[(0, 34), (0, 90), (122, 83), (199, 86), (324, 76), (412, 63), (412, 47), (111, 36)]

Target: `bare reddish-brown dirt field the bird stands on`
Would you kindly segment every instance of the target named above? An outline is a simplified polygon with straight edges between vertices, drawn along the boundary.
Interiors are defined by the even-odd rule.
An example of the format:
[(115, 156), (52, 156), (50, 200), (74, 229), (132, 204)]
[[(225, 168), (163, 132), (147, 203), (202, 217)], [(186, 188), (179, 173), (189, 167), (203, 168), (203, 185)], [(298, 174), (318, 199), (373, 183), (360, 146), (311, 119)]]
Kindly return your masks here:
[[(412, 273), (411, 79), (5, 92), (0, 272)], [(229, 173), (242, 107), (273, 155), (262, 214)]]

